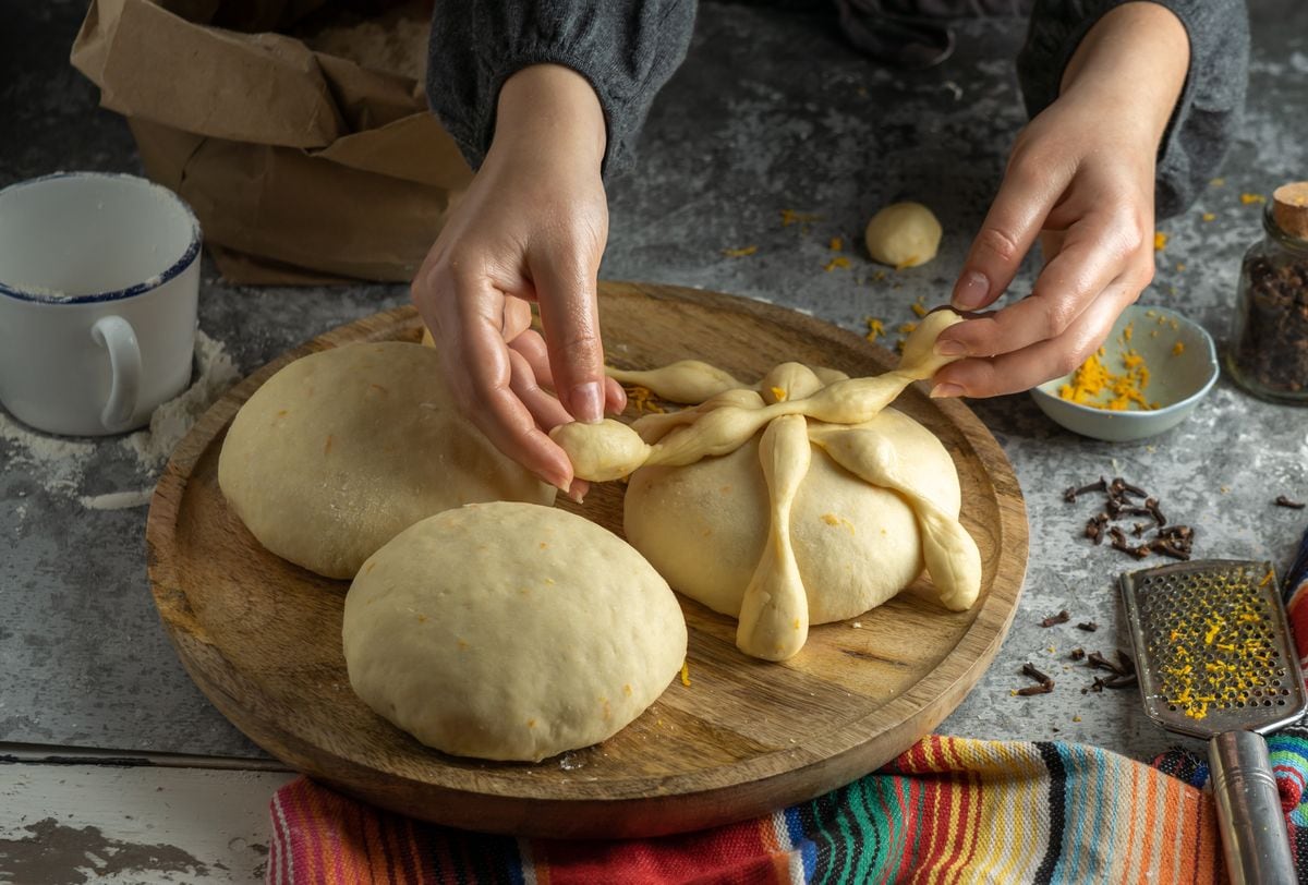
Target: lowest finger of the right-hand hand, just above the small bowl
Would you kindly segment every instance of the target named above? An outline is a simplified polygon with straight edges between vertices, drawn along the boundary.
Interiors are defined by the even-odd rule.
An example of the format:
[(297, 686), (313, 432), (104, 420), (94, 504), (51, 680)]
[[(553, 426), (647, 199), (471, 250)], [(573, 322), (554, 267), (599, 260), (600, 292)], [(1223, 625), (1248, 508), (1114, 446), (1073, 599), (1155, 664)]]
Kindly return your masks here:
[(998, 357), (952, 362), (933, 379), (931, 396), (999, 396), (1031, 390), (1080, 366), (1108, 337), (1113, 322), (1139, 294), (1126, 277), (1116, 280), (1058, 337)]

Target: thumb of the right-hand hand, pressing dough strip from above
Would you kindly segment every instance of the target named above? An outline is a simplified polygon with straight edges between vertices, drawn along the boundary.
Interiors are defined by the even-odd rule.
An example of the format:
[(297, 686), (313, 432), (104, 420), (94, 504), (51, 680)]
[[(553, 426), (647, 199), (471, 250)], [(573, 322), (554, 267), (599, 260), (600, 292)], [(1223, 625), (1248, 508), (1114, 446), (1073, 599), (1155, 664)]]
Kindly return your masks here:
[(1066, 159), (1045, 157), (1045, 152), (1014, 149), (999, 192), (954, 285), (956, 310), (985, 307), (1003, 294), (1016, 276), (1074, 171)]

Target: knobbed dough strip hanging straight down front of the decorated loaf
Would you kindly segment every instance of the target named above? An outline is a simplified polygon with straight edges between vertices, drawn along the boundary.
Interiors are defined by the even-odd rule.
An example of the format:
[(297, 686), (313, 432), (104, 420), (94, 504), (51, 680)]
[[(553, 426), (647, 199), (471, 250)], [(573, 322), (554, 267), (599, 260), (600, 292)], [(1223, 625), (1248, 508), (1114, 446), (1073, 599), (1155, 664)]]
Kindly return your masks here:
[(777, 418), (763, 431), (759, 460), (768, 484), (770, 520), (763, 557), (740, 600), (736, 647), (764, 660), (785, 660), (808, 639), (808, 595), (790, 543), (790, 509), (811, 459), (803, 417)]

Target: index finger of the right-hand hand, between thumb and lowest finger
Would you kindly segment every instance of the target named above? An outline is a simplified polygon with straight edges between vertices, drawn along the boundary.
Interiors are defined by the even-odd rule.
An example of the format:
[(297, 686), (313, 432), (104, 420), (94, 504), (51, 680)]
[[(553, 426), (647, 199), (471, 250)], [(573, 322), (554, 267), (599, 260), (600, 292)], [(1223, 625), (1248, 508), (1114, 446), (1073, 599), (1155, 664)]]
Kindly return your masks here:
[[(989, 316), (959, 323), (940, 333), (937, 352), (944, 356), (993, 357), (1057, 339), (1076, 322), (1105, 288), (1138, 265), (1135, 276), (1152, 268), (1141, 260), (1143, 233), (1127, 217), (1130, 209), (1096, 212), (1069, 229), (1031, 290), (1031, 295)], [(1143, 280), (1141, 288), (1148, 282)]]

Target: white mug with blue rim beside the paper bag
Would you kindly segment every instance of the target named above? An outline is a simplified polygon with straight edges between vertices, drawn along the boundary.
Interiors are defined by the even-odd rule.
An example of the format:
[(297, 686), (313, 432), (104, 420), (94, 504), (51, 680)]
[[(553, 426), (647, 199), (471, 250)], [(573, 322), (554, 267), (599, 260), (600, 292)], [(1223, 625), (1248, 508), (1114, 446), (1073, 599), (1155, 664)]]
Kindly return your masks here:
[(200, 225), (165, 187), (56, 173), (0, 191), (0, 404), (75, 437), (145, 425), (191, 380)]

